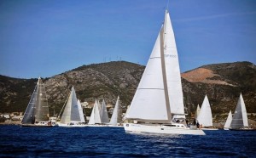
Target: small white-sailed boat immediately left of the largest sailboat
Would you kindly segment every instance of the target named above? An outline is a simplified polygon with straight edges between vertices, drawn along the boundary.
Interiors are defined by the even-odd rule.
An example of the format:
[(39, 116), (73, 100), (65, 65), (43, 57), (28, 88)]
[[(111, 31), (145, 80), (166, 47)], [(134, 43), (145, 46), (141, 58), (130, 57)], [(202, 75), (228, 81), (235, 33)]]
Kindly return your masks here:
[(113, 108), (113, 114), (109, 122), (109, 127), (123, 127), (123, 126), (120, 126), (121, 118), (119, 116), (119, 106), (120, 105), (119, 105), (119, 96), (118, 96), (118, 99), (116, 100), (116, 103)]

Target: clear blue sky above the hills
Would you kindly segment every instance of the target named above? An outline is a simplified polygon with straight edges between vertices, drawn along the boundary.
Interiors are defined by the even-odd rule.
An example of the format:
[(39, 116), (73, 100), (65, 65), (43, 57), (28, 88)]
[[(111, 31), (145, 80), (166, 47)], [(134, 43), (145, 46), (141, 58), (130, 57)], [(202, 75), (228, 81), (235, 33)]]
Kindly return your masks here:
[[(0, 0), (0, 75), (50, 77), (122, 59), (146, 65), (167, 0)], [(171, 0), (181, 71), (256, 63), (256, 1)]]

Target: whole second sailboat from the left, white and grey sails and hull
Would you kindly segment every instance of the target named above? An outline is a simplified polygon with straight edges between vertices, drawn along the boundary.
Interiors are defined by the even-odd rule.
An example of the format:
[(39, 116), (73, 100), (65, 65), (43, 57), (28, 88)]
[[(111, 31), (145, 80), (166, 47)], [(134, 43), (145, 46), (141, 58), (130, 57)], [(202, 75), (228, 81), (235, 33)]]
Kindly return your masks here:
[(84, 112), (77, 99), (74, 87), (68, 96), (67, 103), (61, 116), (61, 121), (57, 122), (59, 127), (85, 127)]

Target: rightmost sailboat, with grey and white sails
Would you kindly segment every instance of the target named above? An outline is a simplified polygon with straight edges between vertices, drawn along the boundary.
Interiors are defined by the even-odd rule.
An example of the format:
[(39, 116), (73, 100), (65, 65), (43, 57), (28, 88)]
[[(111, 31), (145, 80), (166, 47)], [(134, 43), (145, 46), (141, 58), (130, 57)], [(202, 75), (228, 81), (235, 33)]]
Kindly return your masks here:
[(230, 124), (230, 130), (253, 130), (248, 126), (247, 109), (240, 93), (236, 110)]

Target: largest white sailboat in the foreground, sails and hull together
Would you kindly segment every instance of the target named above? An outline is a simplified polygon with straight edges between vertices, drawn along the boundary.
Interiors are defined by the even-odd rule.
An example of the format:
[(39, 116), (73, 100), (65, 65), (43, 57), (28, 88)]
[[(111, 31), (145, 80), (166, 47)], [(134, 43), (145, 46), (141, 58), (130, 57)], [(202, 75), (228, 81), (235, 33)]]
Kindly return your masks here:
[(177, 48), (167, 10), (125, 120), (126, 133), (205, 135), (186, 125)]

